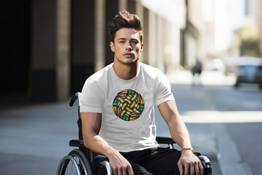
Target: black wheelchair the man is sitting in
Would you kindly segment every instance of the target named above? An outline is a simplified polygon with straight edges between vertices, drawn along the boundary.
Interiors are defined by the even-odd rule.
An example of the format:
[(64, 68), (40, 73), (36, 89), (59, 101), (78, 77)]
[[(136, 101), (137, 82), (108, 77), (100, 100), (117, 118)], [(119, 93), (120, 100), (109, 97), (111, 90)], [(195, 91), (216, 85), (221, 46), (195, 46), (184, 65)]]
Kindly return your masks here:
[[(79, 100), (78, 106), (78, 135), (79, 139), (69, 141), (69, 146), (78, 147), (78, 149), (71, 150), (68, 155), (64, 156), (57, 169), (56, 175), (96, 175), (99, 169), (104, 169), (107, 175), (113, 175), (113, 171), (109, 164), (107, 157), (103, 155), (97, 155), (95, 152), (91, 151), (84, 146), (83, 135), (82, 135), (82, 121), (80, 118), (80, 99), (81, 93), (76, 92), (70, 100), (69, 106), (73, 106), (76, 99)], [(174, 149), (175, 142), (171, 137), (156, 137), (158, 144), (166, 144), (169, 148)], [(211, 175), (211, 163), (206, 156), (200, 153), (195, 153), (201, 160), (204, 167), (204, 175)]]

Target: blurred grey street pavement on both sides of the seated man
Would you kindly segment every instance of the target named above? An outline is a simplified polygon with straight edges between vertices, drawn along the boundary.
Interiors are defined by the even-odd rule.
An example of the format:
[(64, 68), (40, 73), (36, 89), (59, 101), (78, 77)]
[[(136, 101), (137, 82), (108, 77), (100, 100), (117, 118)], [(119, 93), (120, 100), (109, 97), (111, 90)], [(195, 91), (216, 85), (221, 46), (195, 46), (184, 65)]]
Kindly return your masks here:
[[(171, 83), (178, 111), (193, 148), (210, 159), (213, 175), (261, 174), (262, 91), (176, 80)], [(0, 175), (55, 174), (60, 159), (74, 149), (69, 140), (78, 138), (77, 105), (68, 104), (0, 110)], [(169, 136), (155, 111), (157, 135)]]

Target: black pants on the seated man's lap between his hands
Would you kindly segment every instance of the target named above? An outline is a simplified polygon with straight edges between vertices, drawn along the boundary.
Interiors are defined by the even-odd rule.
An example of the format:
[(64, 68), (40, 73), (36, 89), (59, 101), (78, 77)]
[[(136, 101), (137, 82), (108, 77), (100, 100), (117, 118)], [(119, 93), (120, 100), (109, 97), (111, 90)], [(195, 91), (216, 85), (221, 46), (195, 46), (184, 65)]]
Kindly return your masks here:
[(176, 149), (158, 147), (120, 153), (130, 162), (134, 175), (179, 175), (181, 152)]

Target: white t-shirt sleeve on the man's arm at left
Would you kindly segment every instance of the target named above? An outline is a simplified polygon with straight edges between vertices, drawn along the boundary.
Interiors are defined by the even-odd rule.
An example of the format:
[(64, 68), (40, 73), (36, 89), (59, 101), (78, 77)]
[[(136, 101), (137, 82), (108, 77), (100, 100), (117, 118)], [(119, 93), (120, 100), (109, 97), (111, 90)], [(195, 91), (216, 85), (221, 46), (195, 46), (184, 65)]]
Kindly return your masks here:
[(104, 101), (103, 89), (92, 79), (87, 79), (80, 100), (81, 113), (102, 113)]

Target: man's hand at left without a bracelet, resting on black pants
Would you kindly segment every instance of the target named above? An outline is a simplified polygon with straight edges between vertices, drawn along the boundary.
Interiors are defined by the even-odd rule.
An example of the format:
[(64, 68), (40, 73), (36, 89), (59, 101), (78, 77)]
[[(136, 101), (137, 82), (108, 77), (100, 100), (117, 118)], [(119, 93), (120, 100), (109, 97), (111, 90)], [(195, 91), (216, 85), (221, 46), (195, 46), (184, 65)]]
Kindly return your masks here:
[(131, 164), (117, 150), (108, 159), (114, 175), (134, 175)]

